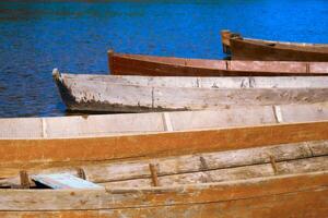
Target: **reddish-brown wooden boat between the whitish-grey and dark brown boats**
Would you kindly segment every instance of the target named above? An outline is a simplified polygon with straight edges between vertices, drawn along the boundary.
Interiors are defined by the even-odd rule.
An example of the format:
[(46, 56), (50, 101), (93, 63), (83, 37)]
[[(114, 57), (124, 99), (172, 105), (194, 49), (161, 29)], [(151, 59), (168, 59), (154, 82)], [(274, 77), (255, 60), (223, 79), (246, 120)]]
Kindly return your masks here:
[[(256, 59), (255, 59), (256, 60)], [(328, 63), (184, 59), (108, 51), (113, 75), (273, 76), (327, 75)]]

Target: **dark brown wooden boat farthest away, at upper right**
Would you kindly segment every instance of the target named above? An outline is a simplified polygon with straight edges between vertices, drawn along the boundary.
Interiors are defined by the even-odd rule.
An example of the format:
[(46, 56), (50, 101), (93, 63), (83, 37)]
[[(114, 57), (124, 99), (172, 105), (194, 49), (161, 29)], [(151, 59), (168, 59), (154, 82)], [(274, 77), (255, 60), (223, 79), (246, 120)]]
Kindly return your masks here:
[(300, 44), (244, 38), (222, 31), (223, 51), (233, 60), (261, 61), (328, 61), (327, 44)]

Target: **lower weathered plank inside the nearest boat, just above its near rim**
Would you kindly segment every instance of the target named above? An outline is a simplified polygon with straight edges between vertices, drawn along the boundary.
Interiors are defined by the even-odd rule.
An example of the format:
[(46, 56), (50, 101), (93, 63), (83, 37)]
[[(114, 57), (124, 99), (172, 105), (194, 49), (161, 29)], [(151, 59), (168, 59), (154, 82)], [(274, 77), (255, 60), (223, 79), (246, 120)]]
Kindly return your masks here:
[[(209, 182), (223, 182), (246, 180), (254, 178), (272, 177), (274, 174), (296, 174), (305, 172), (318, 172), (328, 170), (328, 157), (305, 158), (297, 160), (280, 161), (274, 164), (276, 169), (271, 164), (251, 165), (244, 167), (203, 170), (191, 173), (179, 173), (161, 175), (157, 182), (163, 186), (179, 185), (179, 184), (198, 184)], [(101, 183), (109, 187), (147, 187), (152, 186), (150, 179), (133, 179), (116, 182)]]

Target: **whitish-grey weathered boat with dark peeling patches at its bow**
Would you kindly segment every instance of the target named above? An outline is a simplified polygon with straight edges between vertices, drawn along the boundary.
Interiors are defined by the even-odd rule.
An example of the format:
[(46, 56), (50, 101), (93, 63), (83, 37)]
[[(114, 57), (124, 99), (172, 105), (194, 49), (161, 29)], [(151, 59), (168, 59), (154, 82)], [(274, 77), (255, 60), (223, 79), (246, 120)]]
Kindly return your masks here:
[(328, 77), (148, 77), (60, 74), (69, 110), (142, 112), (328, 100)]

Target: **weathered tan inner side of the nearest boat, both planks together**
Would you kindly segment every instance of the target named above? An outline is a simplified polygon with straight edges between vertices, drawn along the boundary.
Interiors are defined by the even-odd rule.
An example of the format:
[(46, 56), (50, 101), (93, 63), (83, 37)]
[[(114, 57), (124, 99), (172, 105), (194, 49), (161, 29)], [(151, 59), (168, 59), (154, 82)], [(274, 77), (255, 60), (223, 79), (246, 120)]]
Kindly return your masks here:
[[(312, 148), (309, 148), (309, 146), (312, 146)], [(257, 177), (260, 174), (266, 175), (266, 172), (272, 174), (272, 167), (270, 165), (260, 166), (263, 164), (270, 164), (271, 157), (274, 158), (277, 166), (278, 162), (281, 161), (301, 159), (298, 162), (302, 164), (304, 161), (305, 162), (309, 161), (309, 165), (314, 166), (314, 167), (305, 166), (304, 170), (306, 169), (324, 170), (326, 158), (323, 159), (320, 158), (308, 159), (308, 158), (314, 157), (313, 149), (318, 149), (318, 148), (320, 149), (318, 149), (315, 155), (319, 157), (320, 156), (326, 157), (328, 155), (328, 150), (326, 149), (327, 146), (328, 144), (326, 141), (306, 142), (300, 144), (285, 144), (285, 145), (268, 146), (268, 147), (237, 149), (237, 150), (229, 150), (229, 152), (220, 152), (220, 153), (206, 153), (206, 154), (198, 154), (198, 155), (187, 155), (187, 156), (149, 159), (149, 160), (119, 161), (114, 164), (94, 162), (93, 165), (79, 166), (79, 169), (83, 169), (85, 179), (87, 179), (89, 181), (96, 182), (96, 183), (115, 182), (115, 183), (110, 183), (110, 186), (149, 185), (152, 175), (149, 170), (149, 162), (156, 165), (157, 177), (163, 178), (163, 175), (180, 174), (175, 177), (165, 177), (161, 179), (164, 180), (164, 184), (171, 184), (171, 182), (174, 182), (175, 180), (178, 180), (179, 183), (186, 183), (189, 182), (188, 177), (189, 178), (191, 177), (191, 180), (196, 179), (197, 181), (192, 181), (195, 183), (211, 182), (211, 178), (212, 179), (214, 178), (215, 181), (222, 181), (222, 180), (233, 180), (243, 177)], [(302, 160), (303, 158), (305, 158), (305, 160)], [(314, 164), (312, 165), (311, 162)], [(316, 162), (319, 165), (324, 165), (323, 169), (321, 168), (316, 169), (317, 167)], [(301, 164), (298, 166), (302, 166)], [(245, 167), (245, 166), (254, 166), (254, 167)], [(44, 167), (45, 169), (34, 170), (33, 171), (34, 174), (63, 173), (63, 172), (70, 174), (79, 174), (79, 170), (72, 167), (50, 168), (50, 169), (47, 169), (46, 166), (42, 166), (42, 167)], [(282, 167), (279, 170), (282, 171), (284, 168), (286, 167)], [(12, 173), (14, 173), (19, 168), (15, 168)], [(210, 172), (211, 170), (214, 171)], [(298, 170), (303, 170), (303, 169), (298, 169)], [(291, 173), (296, 173), (296, 172), (297, 171), (293, 171), (293, 169), (291, 169)], [(195, 174), (190, 175), (190, 173), (195, 173)], [(134, 179), (142, 179), (142, 180), (131, 181)], [(121, 182), (122, 180), (129, 180), (129, 181)], [(19, 185), (19, 182), (20, 182), (19, 178), (2, 179), (0, 180), (0, 185), (2, 186), (11, 186), (13, 184)], [(159, 182), (156, 182), (156, 184), (159, 184)]]

